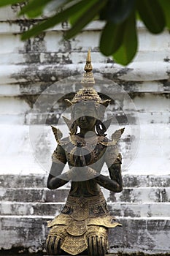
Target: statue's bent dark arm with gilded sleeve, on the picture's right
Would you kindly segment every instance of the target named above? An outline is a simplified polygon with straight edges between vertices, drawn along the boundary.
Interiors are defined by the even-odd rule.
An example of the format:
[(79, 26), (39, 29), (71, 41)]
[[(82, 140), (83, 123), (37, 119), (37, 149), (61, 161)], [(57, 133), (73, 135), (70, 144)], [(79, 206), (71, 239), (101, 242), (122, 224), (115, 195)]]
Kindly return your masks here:
[[(115, 157), (116, 156), (116, 157)], [(109, 170), (109, 176), (100, 174), (96, 177), (96, 181), (102, 187), (109, 189), (112, 192), (121, 192), (123, 190), (123, 179), (121, 174), (121, 155), (117, 150), (109, 151), (107, 154), (106, 163)]]

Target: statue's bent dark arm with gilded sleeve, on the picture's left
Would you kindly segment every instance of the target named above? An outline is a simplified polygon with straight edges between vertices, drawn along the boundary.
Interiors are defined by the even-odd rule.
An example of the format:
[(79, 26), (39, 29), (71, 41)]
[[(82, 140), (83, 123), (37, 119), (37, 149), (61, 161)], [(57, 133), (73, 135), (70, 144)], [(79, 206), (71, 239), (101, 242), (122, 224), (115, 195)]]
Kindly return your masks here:
[(62, 187), (69, 181), (58, 178), (58, 176), (61, 175), (64, 166), (66, 165), (66, 154), (60, 145), (58, 145), (58, 147), (54, 151), (52, 160), (53, 163), (51, 165), (50, 173), (47, 178), (47, 188), (58, 189), (58, 187)]

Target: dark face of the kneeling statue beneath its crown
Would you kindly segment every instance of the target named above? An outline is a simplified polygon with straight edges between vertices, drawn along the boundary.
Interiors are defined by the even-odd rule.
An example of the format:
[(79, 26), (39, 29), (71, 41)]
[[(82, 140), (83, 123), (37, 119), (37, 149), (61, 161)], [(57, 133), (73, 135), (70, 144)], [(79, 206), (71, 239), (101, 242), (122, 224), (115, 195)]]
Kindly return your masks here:
[(94, 105), (77, 104), (74, 107), (74, 120), (81, 129), (90, 130), (96, 124), (96, 109)]

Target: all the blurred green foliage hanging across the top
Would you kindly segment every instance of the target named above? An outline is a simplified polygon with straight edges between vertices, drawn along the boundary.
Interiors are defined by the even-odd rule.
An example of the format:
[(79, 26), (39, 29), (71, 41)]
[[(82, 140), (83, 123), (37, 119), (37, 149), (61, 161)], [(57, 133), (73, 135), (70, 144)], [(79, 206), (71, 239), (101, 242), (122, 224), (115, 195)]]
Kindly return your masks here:
[[(23, 3), (23, 0), (3, 0), (0, 7)], [(49, 7), (53, 14), (22, 34), (22, 39), (37, 34), (69, 20), (71, 29), (64, 34), (70, 39), (80, 33), (91, 20), (98, 18), (105, 21), (101, 31), (99, 48), (105, 56), (112, 56), (117, 63), (127, 65), (136, 54), (138, 38), (136, 20), (158, 34), (165, 27), (170, 29), (170, 0), (29, 0), (19, 15), (38, 18)]]

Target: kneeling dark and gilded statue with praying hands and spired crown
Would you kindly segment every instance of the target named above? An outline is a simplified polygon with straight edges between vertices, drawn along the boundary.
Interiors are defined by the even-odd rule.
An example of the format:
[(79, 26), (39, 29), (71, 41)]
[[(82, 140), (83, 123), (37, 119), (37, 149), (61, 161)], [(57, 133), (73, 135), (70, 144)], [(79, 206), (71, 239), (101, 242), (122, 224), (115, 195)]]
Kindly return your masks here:
[[(82, 78), (83, 88), (72, 101), (66, 104), (72, 110), (72, 119), (64, 118), (70, 135), (62, 139), (59, 129), (52, 127), (58, 146), (53, 153), (53, 164), (47, 180), (49, 189), (57, 189), (69, 181), (71, 189), (61, 214), (48, 222), (50, 232), (47, 236), (48, 255), (104, 256), (108, 249), (108, 228), (119, 226), (115, 217), (109, 215), (101, 187), (112, 192), (121, 192), (121, 154), (117, 141), (124, 129), (117, 130), (112, 140), (105, 132), (110, 121), (103, 121), (104, 111), (109, 99), (102, 100), (93, 89), (94, 78), (90, 60), (90, 50)], [(77, 132), (79, 127), (80, 132)], [(62, 173), (66, 162), (69, 170)], [(101, 175), (106, 162), (109, 178)]]

